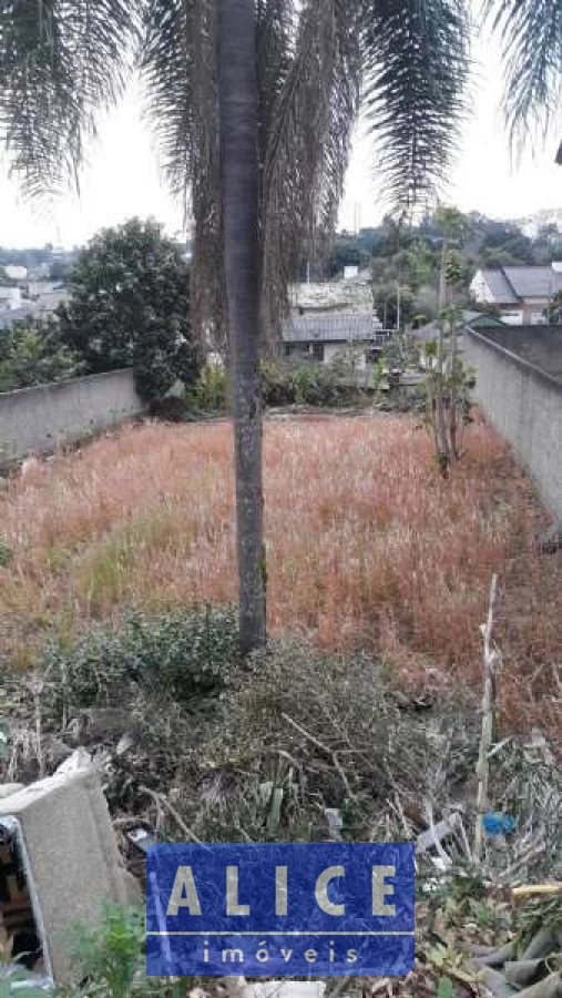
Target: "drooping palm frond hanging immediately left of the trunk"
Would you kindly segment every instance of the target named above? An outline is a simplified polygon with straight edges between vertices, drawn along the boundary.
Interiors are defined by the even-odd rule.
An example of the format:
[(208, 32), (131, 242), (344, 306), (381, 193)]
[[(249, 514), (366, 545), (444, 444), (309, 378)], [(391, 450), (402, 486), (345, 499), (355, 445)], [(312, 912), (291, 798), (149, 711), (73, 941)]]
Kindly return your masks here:
[(147, 0), (141, 72), (172, 190), (195, 222), (192, 308), (225, 349), (222, 206), (212, 0)]

